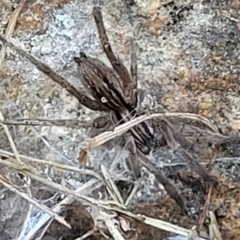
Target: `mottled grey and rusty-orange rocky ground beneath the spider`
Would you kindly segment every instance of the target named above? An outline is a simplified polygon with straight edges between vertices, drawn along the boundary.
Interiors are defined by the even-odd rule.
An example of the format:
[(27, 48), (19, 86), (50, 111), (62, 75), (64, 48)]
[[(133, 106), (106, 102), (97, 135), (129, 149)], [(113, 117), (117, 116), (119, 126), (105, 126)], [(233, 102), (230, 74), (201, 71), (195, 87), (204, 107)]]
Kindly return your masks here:
[[(239, 132), (239, 1), (127, 1), (134, 27), (129, 24), (123, 1), (102, 2), (109, 40), (126, 66), (129, 66), (128, 38), (134, 34), (139, 88), (144, 90), (141, 106), (144, 113), (158, 112), (163, 108), (169, 112), (196, 113), (210, 119), (224, 134)], [(0, 0), (1, 35), (5, 34), (18, 4), (18, 1)], [(73, 57), (80, 50), (108, 64), (100, 46), (92, 7), (93, 2), (85, 0), (27, 0), (18, 16), (11, 41), (80, 88), (73, 63)], [(0, 56), (0, 79), (0, 110), (6, 120), (51, 118), (92, 121), (100, 115), (80, 106), (73, 96), (10, 49), (6, 50), (4, 60)], [(79, 150), (100, 132), (89, 127), (73, 129), (59, 126), (8, 126), (8, 129), (19, 154), (77, 167)], [(12, 152), (3, 127), (0, 128), (0, 136), (0, 150)], [(94, 149), (87, 168), (99, 173), (100, 165), (104, 164), (110, 173), (129, 177), (124, 164), (128, 153), (121, 148), (121, 142), (122, 139), (117, 138)], [(198, 150), (198, 159), (204, 166), (213, 156), (215, 158), (212, 173), (221, 184), (217, 190), (212, 190), (209, 210), (218, 217), (223, 239), (240, 238), (239, 146), (239, 142), (235, 142), (218, 146), (218, 149), (199, 147)], [(0, 155), (4, 160), (6, 156), (2, 152)], [(178, 186), (193, 207), (192, 215), (183, 217), (181, 209), (164, 196), (164, 191), (159, 191), (152, 175), (144, 168), (139, 189), (130, 204), (132, 211), (186, 228), (198, 225), (208, 188), (167, 148), (152, 153), (151, 160)], [(35, 167), (42, 176), (72, 189), (91, 179), (91, 176), (76, 172), (43, 169), (37, 164)], [(21, 187), (22, 191), (27, 191), (24, 179), (15, 170), (0, 164), (0, 174)], [(33, 197), (49, 207), (63, 198), (54, 189), (35, 180), (30, 186)], [(125, 185), (122, 187), (119, 183), (118, 187), (123, 196), (129, 194), (130, 190)], [(96, 189), (87, 190), (86, 195), (107, 198), (106, 190)], [(0, 185), (0, 239), (17, 239), (30, 212), (29, 207), (26, 200)], [(37, 214), (36, 209), (32, 210), (31, 216)], [(74, 226), (72, 231), (53, 222), (42, 239), (76, 239), (94, 226), (92, 217), (79, 203), (66, 207), (62, 215)], [(128, 221), (131, 230), (127, 231), (126, 239), (167, 237), (160, 230), (131, 219)], [(202, 231), (207, 232), (207, 226), (208, 220), (204, 222)], [(136, 236), (132, 229), (138, 229)], [(109, 233), (105, 234), (108, 236)], [(96, 232), (86, 239), (106, 239), (106, 236), (104, 238), (103, 234)]]

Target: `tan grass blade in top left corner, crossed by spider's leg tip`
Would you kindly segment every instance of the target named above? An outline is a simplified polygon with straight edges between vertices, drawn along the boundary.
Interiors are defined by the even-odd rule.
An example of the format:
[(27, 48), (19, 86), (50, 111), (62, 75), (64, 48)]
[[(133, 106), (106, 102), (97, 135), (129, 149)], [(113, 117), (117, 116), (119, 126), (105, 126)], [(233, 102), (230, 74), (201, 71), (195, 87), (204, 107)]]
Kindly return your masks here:
[[(20, 2), (18, 4), (18, 7), (13, 11), (13, 13), (12, 13), (10, 19), (9, 19), (7, 29), (6, 29), (6, 33), (5, 33), (5, 36), (6, 36), (7, 40), (9, 40), (11, 38), (11, 36), (14, 32), (18, 16), (19, 16), (24, 4), (25, 4), (25, 0)], [(2, 65), (2, 62), (5, 58), (5, 52), (6, 52), (6, 46), (2, 46), (2, 49), (1, 49), (1, 52), (0, 52), (0, 66)]]

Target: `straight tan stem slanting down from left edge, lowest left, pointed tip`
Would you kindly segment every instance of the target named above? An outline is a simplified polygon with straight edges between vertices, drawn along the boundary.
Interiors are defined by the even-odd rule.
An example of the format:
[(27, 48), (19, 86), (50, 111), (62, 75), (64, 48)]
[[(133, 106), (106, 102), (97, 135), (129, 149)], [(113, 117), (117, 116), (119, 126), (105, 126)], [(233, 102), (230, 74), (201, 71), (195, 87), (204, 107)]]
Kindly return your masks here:
[(8, 188), (10, 191), (18, 194), (19, 196), (21, 196), (22, 198), (26, 199), (27, 201), (29, 201), (30, 203), (32, 203), (33, 205), (35, 205), (36, 207), (38, 207), (39, 209), (41, 209), (42, 211), (46, 212), (47, 214), (49, 214), (53, 219), (57, 220), (59, 223), (63, 224), (64, 226), (71, 228), (71, 226), (64, 220), (64, 218), (60, 217), (58, 214), (56, 214), (55, 212), (53, 212), (51, 209), (49, 209), (48, 207), (46, 207), (45, 205), (42, 205), (40, 203), (38, 203), (36, 200), (32, 199), (30, 196), (28, 196), (26, 193), (21, 192), (16, 186), (14, 186), (12, 183), (10, 183), (6, 178), (4, 178), (2, 175), (0, 175), (0, 182), (6, 187)]

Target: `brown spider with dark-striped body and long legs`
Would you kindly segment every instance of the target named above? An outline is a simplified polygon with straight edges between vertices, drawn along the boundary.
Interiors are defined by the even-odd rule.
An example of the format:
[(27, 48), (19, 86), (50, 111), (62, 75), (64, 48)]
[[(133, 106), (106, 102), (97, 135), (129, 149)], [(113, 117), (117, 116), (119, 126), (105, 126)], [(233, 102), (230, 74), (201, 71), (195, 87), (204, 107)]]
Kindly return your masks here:
[[(137, 116), (136, 108), (140, 103), (138, 78), (137, 78), (137, 57), (135, 50), (134, 39), (131, 37), (131, 67), (130, 72), (123, 63), (115, 56), (112, 47), (108, 41), (106, 30), (103, 23), (103, 17), (99, 6), (94, 6), (93, 17), (98, 29), (98, 34), (102, 48), (108, 57), (111, 67), (108, 67), (103, 62), (96, 58), (87, 56), (84, 52), (80, 52), (74, 61), (78, 65), (80, 80), (88, 92), (82, 92), (72, 86), (67, 80), (54, 72), (50, 67), (35, 59), (30, 54), (9, 43), (6, 39), (0, 36), (3, 44), (8, 45), (17, 51), (20, 55), (26, 57), (40, 71), (49, 76), (53, 81), (60, 84), (70, 94), (78, 99), (78, 101), (93, 111), (105, 111), (111, 113), (111, 118), (114, 124), (129, 121)], [(105, 125), (96, 119), (95, 126), (101, 127)], [(173, 128), (167, 121), (160, 121), (157, 127), (162, 132), (163, 142), (172, 148), (176, 155), (192, 165), (193, 169), (208, 183), (217, 185), (214, 177), (210, 176), (207, 171), (197, 162), (192, 156), (182, 148), (177, 142)], [(153, 128), (148, 122), (143, 122), (130, 130), (130, 166), (135, 173), (135, 177), (140, 175), (139, 164), (144, 165), (150, 172), (154, 173), (157, 181), (165, 188), (166, 192), (172, 197), (181, 207), (186, 210), (185, 202), (178, 193), (176, 187), (159, 172), (154, 164), (148, 159), (148, 154), (151, 151), (152, 144), (156, 141)], [(136, 157), (137, 156), (137, 157)]]

